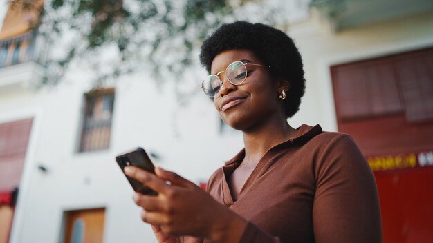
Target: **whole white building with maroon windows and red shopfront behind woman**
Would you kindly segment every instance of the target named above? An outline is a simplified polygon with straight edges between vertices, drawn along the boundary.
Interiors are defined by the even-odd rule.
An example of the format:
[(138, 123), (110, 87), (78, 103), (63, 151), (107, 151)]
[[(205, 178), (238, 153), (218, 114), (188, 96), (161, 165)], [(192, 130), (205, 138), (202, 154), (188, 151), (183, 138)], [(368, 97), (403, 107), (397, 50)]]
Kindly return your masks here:
[[(280, 27), (300, 48), (307, 88), (289, 122), (350, 133), (376, 176), (384, 242), (431, 242), (433, 3), (297, 3), (288, 14), (302, 14)], [(221, 128), (204, 95), (180, 107), (173, 86), (159, 90), (143, 74), (99, 90), (80, 73), (35, 88), (45, 47), (8, 16), (18, 15), (0, 34), (0, 237), (154, 242), (114, 157), (142, 146), (199, 184), (241, 149), (241, 135)]]

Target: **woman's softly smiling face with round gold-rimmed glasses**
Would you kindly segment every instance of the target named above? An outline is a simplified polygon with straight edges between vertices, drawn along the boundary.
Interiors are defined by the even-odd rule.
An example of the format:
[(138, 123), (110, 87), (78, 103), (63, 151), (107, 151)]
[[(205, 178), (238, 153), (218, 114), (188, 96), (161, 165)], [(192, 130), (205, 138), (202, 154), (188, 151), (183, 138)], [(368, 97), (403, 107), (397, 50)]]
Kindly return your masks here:
[[(227, 50), (212, 61), (211, 73), (225, 71), (233, 61), (266, 65), (249, 50)], [(278, 82), (273, 81), (267, 67), (246, 65), (248, 75), (241, 85), (233, 85), (219, 75), (223, 86), (214, 97), (214, 105), (221, 119), (234, 129), (248, 131), (281, 116)]]

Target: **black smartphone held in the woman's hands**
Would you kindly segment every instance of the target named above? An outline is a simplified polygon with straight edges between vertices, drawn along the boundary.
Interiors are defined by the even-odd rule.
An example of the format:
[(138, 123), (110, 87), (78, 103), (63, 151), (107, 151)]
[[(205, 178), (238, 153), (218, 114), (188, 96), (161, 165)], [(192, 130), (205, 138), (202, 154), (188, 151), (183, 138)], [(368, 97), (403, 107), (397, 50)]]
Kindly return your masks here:
[[(150, 173), (155, 173), (154, 164), (151, 162), (146, 151), (142, 148), (136, 148), (136, 150), (133, 150), (129, 153), (116, 156), (116, 162), (118, 162), (118, 165), (124, 174), (124, 169), (126, 166), (136, 166), (145, 171), (149, 171)], [(158, 195), (156, 191), (153, 191), (147, 186), (143, 186), (142, 183), (138, 182), (136, 179), (133, 179), (127, 175), (125, 176), (127, 177), (129, 184), (131, 184), (134, 191), (145, 195)]]

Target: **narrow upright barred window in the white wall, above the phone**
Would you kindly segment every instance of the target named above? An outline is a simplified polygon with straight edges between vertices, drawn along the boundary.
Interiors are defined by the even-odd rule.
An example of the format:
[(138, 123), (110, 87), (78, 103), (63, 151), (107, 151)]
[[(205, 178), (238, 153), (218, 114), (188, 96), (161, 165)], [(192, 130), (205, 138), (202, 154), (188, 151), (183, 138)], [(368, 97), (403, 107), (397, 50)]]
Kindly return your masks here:
[(93, 90), (84, 97), (86, 104), (79, 151), (109, 148), (114, 89)]

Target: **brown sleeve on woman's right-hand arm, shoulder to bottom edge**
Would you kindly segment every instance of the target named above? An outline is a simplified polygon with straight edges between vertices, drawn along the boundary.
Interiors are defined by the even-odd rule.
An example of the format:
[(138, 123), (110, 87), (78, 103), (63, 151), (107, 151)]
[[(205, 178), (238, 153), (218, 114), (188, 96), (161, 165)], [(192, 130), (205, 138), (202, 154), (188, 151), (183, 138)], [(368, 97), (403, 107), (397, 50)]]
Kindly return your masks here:
[(349, 135), (326, 144), (315, 166), (313, 230), (321, 242), (382, 242), (374, 175)]

